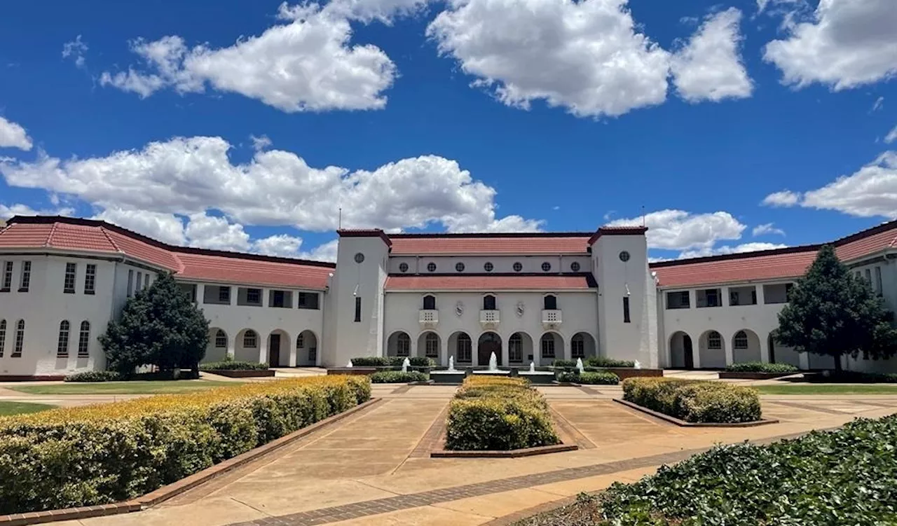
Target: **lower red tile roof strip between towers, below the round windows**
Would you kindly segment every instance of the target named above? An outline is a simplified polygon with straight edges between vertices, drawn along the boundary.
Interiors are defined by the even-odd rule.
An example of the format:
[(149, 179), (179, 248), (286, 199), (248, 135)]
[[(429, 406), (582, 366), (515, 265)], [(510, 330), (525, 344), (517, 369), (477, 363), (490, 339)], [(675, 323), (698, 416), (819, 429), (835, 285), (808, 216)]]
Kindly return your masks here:
[(588, 290), (585, 275), (389, 276), (387, 290)]

